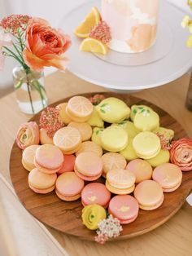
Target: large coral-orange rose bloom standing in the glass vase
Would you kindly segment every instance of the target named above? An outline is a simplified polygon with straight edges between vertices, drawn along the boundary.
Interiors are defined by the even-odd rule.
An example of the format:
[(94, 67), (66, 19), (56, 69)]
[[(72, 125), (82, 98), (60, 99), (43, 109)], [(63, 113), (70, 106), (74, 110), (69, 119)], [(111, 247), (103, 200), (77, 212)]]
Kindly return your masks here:
[(65, 69), (68, 58), (64, 52), (71, 46), (71, 39), (61, 29), (52, 29), (46, 20), (34, 18), (26, 30), (24, 61), (29, 68), (41, 71), (44, 67)]

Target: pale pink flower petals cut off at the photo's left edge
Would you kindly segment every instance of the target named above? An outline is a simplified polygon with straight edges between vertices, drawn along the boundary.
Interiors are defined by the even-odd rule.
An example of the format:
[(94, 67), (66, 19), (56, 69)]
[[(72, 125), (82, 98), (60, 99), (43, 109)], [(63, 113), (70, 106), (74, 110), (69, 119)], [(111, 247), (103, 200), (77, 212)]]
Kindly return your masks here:
[(5, 30), (0, 27), (0, 70), (4, 66), (5, 56), (2, 53), (2, 46), (11, 46), (11, 35), (5, 33)]

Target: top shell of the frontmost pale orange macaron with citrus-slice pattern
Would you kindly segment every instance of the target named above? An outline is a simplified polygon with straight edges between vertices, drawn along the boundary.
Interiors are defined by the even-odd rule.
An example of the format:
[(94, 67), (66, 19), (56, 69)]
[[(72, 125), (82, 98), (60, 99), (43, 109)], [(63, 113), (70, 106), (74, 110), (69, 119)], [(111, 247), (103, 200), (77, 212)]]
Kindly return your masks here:
[(130, 188), (136, 180), (135, 174), (130, 170), (116, 169), (107, 172), (107, 182), (114, 188)]

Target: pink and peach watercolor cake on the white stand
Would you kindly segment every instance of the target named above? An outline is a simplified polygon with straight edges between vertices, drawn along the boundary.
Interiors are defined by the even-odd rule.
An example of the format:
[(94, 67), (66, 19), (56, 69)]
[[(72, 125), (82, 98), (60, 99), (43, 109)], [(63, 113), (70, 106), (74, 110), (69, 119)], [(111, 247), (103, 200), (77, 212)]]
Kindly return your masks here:
[(102, 18), (111, 29), (109, 47), (136, 53), (155, 43), (159, 0), (102, 0)]

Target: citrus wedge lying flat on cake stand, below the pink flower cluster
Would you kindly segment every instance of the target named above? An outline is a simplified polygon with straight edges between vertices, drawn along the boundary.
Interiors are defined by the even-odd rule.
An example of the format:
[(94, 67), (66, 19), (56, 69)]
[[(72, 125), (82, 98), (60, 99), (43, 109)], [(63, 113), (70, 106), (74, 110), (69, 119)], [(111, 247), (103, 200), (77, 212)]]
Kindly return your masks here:
[(90, 51), (106, 55), (108, 47), (97, 39), (85, 38), (83, 42), (81, 42), (80, 51)]

